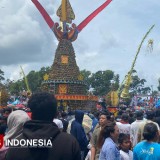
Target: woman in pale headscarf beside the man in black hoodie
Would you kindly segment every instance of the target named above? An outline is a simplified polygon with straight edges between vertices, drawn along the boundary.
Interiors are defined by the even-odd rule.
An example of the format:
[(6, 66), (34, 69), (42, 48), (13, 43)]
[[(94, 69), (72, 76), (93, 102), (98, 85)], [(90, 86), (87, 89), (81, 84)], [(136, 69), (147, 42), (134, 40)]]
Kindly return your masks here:
[[(8, 129), (4, 136), (4, 143), (7, 139), (14, 139), (19, 136), (22, 133), (24, 123), (29, 120), (30, 118), (26, 112), (22, 110), (13, 111), (7, 119)], [(5, 146), (0, 149), (0, 160), (5, 159), (7, 149), (8, 148)]]

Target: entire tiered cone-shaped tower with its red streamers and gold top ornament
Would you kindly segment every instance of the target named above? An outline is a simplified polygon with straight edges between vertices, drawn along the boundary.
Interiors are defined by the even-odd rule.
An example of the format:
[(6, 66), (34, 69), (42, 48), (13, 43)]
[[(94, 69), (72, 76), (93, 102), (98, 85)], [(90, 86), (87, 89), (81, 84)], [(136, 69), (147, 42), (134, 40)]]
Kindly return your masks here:
[(62, 0), (57, 10), (60, 24), (52, 21), (37, 0), (32, 0), (59, 41), (50, 73), (44, 76), (43, 81), (43, 88), (55, 94), (59, 106), (69, 106), (71, 109), (78, 108), (82, 110), (95, 108), (98, 98), (92, 94), (87, 94), (86, 84), (76, 63), (72, 42), (77, 39), (80, 31), (111, 1), (108, 0), (103, 3), (82, 23), (76, 26), (72, 23), (75, 15), (69, 0)]

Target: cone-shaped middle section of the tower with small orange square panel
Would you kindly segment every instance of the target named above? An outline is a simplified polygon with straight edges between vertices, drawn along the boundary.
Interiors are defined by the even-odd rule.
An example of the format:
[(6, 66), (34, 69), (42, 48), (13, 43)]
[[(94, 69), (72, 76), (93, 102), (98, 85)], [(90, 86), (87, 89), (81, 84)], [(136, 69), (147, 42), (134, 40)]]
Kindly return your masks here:
[(72, 43), (67, 39), (62, 39), (56, 50), (49, 79), (78, 80), (79, 74)]

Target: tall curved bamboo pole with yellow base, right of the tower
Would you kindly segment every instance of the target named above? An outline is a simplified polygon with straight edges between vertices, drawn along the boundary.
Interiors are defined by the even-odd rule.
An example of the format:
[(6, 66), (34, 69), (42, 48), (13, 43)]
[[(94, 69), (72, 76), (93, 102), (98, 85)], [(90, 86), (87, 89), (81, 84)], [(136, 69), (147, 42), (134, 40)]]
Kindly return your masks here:
[[(132, 66), (131, 66), (131, 69), (130, 71), (128, 72), (126, 78), (125, 78), (125, 84), (124, 84), (124, 88), (121, 92), (121, 95), (120, 97), (123, 98), (123, 99), (129, 99), (130, 98), (130, 95), (129, 95), (129, 88), (130, 88), (130, 84), (132, 82), (132, 72), (133, 72), (133, 69), (134, 69), (134, 66), (135, 66), (135, 63), (136, 63), (136, 60), (137, 60), (137, 57), (140, 53), (140, 50), (141, 50), (141, 47), (142, 47), (142, 44), (144, 42), (144, 40), (147, 38), (148, 34), (151, 32), (151, 30), (154, 28), (155, 25), (153, 25), (149, 30), (148, 32), (145, 34), (145, 36), (143, 37), (139, 47), (138, 47), (138, 50), (137, 50), (137, 53), (136, 53), (136, 56), (133, 60), (133, 63), (132, 63)], [(121, 86), (120, 86), (121, 87)]]

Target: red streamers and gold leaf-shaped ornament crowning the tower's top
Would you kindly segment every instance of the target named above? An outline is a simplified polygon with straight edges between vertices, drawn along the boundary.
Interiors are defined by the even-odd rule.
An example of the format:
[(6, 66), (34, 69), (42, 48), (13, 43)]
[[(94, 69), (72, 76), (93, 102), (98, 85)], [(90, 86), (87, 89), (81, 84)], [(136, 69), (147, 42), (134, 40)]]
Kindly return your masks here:
[[(77, 39), (78, 33), (85, 28), (85, 26), (96, 17), (112, 0), (107, 0), (100, 7), (98, 7), (93, 13), (91, 13), (84, 21), (82, 21), (78, 26), (72, 23), (72, 20), (75, 18), (72, 7), (69, 3), (69, 0), (62, 0), (62, 4), (57, 11), (57, 15), (60, 17), (62, 22), (62, 27), (58, 23), (54, 23), (46, 10), (38, 2), (38, 0), (32, 0), (39, 12), (42, 14), (43, 18), (47, 22), (50, 29), (54, 32), (57, 39), (60, 41), (63, 38), (70, 40), (71, 42)], [(67, 23), (72, 23), (72, 27), (69, 27)]]

